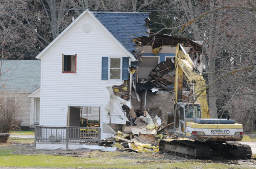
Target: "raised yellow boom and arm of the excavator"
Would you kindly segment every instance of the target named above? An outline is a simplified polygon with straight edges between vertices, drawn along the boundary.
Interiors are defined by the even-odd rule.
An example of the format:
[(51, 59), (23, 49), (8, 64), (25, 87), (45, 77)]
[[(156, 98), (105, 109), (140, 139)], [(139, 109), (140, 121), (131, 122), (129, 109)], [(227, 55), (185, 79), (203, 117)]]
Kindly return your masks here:
[(185, 74), (189, 84), (193, 85), (194, 99), (197, 98), (196, 101), (201, 104), (202, 118), (210, 118), (205, 80), (190, 59), (189, 54), (186, 54), (182, 44), (178, 44), (176, 48), (175, 67), (175, 102), (182, 102), (183, 75)]

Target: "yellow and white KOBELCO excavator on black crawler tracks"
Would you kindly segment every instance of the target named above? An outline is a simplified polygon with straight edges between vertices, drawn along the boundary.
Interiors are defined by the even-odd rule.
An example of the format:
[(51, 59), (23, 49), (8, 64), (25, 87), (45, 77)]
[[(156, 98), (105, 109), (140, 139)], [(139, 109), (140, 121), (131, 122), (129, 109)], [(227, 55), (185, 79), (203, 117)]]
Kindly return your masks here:
[[(193, 98), (185, 101), (182, 100), (184, 76), (193, 90)], [(174, 132), (178, 137), (189, 139), (162, 140), (159, 143), (160, 151), (177, 152), (195, 158), (210, 158), (216, 153), (229, 153), (236, 158), (251, 158), (250, 146), (236, 142), (243, 138), (242, 124), (237, 124), (229, 118), (210, 118), (204, 78), (186, 54), (182, 44), (178, 44), (176, 48), (173, 102)]]

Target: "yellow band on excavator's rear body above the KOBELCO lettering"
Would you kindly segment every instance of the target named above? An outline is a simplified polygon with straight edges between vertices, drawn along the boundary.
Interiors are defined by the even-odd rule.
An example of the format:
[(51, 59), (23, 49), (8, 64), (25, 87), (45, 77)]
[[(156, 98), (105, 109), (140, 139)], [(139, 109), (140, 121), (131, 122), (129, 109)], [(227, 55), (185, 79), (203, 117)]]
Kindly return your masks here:
[(194, 122), (186, 122), (186, 127), (201, 129), (242, 129), (242, 124), (198, 124)]

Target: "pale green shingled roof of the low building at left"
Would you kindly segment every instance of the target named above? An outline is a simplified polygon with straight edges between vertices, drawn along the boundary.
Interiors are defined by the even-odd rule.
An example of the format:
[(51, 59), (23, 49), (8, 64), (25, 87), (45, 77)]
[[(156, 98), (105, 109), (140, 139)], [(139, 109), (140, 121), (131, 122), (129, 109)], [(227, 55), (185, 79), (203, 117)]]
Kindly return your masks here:
[(3, 60), (2, 73), (0, 92), (32, 93), (40, 87), (41, 61)]

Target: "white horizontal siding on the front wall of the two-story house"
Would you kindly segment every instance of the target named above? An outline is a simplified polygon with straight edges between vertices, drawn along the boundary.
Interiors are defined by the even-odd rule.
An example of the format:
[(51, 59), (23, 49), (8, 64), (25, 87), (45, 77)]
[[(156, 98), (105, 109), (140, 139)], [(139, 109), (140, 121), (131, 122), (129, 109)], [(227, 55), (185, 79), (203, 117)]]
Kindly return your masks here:
[[(82, 31), (90, 23), (89, 33)], [(77, 54), (76, 73), (62, 73), (62, 55)], [(44, 126), (67, 126), (68, 105), (102, 106), (101, 122), (109, 123), (104, 107), (109, 98), (104, 87), (121, 85), (121, 80), (103, 81), (102, 56), (126, 56), (125, 52), (93, 18), (85, 14), (41, 57), (41, 123)]]

